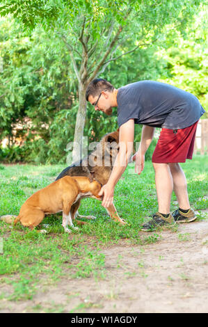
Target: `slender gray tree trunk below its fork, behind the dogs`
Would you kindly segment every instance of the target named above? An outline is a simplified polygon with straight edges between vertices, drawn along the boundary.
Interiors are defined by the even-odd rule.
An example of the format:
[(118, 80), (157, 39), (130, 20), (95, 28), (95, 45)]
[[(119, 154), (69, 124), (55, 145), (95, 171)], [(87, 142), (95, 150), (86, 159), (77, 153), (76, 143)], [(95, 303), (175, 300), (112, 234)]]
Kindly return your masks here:
[(83, 128), (86, 122), (86, 88), (83, 83), (79, 83), (79, 109), (77, 111), (77, 120), (74, 131), (74, 146), (72, 152), (72, 159), (78, 161), (81, 159), (83, 147)]

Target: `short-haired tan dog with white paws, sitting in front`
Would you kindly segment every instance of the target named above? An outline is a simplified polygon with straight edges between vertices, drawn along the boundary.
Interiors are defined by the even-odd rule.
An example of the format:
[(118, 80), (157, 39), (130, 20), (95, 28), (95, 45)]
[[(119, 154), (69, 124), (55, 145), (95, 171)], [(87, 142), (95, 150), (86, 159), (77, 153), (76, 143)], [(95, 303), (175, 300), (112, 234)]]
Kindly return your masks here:
[(98, 196), (100, 189), (101, 184), (95, 180), (90, 182), (88, 177), (65, 176), (30, 196), (22, 205), (14, 223), (21, 221), (22, 225), (33, 230), (41, 223), (45, 214), (63, 212), (63, 228), (65, 232), (71, 232), (67, 224), (69, 223), (70, 227), (74, 228), (73, 204), (86, 196), (100, 199)]

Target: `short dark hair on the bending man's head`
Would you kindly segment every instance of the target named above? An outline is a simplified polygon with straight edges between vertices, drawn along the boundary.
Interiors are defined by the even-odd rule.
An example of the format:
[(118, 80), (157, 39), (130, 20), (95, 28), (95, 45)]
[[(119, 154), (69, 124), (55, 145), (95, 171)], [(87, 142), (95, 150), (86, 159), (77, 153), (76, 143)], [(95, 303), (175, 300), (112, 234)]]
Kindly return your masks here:
[(90, 95), (95, 97), (104, 90), (113, 92), (113, 89), (113, 85), (106, 81), (106, 79), (93, 79), (93, 81), (89, 83), (88, 88), (86, 90), (86, 100), (88, 101), (88, 97)]

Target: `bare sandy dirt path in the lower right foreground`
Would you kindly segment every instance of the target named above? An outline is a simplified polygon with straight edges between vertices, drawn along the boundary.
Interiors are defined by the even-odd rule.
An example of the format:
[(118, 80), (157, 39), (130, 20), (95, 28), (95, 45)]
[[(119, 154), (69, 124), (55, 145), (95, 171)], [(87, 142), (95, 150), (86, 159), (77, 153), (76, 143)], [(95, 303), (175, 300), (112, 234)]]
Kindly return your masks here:
[(165, 230), (146, 246), (105, 248), (106, 276), (42, 286), (0, 312), (208, 312), (208, 221)]

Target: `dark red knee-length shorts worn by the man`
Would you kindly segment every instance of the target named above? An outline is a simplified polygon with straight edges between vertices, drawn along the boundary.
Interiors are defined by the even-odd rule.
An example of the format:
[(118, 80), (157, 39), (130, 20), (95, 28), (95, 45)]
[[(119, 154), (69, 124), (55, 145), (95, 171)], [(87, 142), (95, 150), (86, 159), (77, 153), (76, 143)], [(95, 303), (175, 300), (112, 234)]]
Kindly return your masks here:
[(195, 122), (183, 129), (162, 128), (152, 162), (185, 162), (186, 159), (192, 159), (197, 124)]

